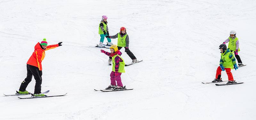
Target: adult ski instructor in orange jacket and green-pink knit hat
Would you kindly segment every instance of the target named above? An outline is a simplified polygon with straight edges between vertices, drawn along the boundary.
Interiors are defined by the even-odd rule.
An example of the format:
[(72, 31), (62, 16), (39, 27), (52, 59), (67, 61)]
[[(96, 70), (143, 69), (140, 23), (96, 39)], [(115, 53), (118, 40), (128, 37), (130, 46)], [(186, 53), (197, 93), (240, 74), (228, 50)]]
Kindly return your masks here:
[(41, 84), (42, 84), (42, 61), (45, 57), (45, 51), (50, 50), (61, 45), (62, 42), (59, 42), (56, 45), (49, 45), (47, 46), (46, 39), (44, 38), (41, 43), (37, 43), (35, 46), (35, 51), (32, 53), (31, 57), (28, 59), (27, 62), (27, 77), (24, 81), (22, 81), (19, 89), (19, 94), (28, 94), (28, 91), (26, 90), (29, 82), (32, 80), (32, 75), (34, 76), (36, 80), (35, 85), (35, 96), (44, 96), (44, 94), (41, 93)]

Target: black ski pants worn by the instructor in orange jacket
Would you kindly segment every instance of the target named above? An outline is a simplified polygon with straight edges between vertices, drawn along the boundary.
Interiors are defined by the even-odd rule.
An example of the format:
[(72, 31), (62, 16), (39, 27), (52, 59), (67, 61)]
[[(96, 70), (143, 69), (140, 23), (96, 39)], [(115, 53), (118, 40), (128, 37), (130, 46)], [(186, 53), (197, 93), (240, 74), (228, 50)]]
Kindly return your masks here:
[(34, 94), (41, 93), (41, 84), (42, 84), (42, 71), (38, 69), (38, 67), (28, 65), (27, 64), (27, 77), (25, 78), (24, 81), (22, 81), (20, 85), (20, 91), (25, 91), (29, 82), (32, 80), (32, 75), (34, 76), (36, 80), (36, 85), (35, 85), (35, 91)]

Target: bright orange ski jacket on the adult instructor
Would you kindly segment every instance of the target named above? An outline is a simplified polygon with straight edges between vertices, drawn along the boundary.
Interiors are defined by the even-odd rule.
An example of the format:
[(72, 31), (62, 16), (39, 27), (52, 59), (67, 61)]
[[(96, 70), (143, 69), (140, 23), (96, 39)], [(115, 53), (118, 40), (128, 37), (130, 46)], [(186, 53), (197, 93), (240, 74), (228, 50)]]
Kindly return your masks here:
[(35, 51), (32, 53), (32, 55), (28, 59), (27, 64), (32, 65), (32, 66), (36, 66), (36, 67), (39, 68), (39, 70), (42, 70), (42, 61), (44, 60), (44, 57), (45, 57), (45, 51), (56, 48), (58, 46), (59, 46), (59, 44), (49, 45), (44, 50), (44, 49), (41, 48), (40, 43), (38, 42), (35, 46)]

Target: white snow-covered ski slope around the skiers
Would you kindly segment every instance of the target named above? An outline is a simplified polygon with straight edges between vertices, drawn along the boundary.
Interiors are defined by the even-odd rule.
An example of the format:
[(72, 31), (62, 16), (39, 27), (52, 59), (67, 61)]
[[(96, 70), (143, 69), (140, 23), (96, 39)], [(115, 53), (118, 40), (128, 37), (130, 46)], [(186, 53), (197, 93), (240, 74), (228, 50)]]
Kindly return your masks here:
[[(256, 119), (256, 1), (2, 0), (0, 5), (1, 92), (19, 89), (26, 62), (43, 38), (49, 45), (62, 41), (63, 46), (46, 51), (42, 91), (68, 92), (22, 100), (0, 96), (0, 120)], [(143, 59), (121, 75), (131, 91), (93, 90), (110, 84), (112, 68), (108, 56), (91, 47), (99, 43), (102, 15), (108, 16), (110, 35), (127, 28), (130, 50)], [(232, 73), (244, 84), (201, 84), (215, 77), (218, 47), (230, 30), (237, 32), (239, 55), (247, 64)], [(131, 63), (124, 48), (121, 52)], [(27, 90), (33, 92), (34, 85), (33, 79)]]

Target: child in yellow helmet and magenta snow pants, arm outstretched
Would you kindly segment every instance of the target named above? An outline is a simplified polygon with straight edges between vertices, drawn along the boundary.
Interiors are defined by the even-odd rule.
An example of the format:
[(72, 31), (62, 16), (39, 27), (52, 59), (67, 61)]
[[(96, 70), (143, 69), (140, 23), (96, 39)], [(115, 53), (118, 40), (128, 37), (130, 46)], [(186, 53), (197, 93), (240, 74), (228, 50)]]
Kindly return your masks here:
[[(123, 58), (120, 56), (122, 53), (118, 50), (116, 45), (110, 46), (111, 53), (108, 53), (104, 50), (100, 50), (100, 51), (101, 53), (105, 53), (106, 55), (112, 57), (113, 67), (112, 67), (112, 72), (110, 74), (111, 84), (106, 89), (111, 89), (111, 88), (114, 88), (114, 90), (125, 89), (121, 81), (121, 74), (125, 72), (124, 71), (125, 63)], [(117, 86), (116, 86), (116, 82), (117, 82)]]

